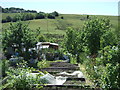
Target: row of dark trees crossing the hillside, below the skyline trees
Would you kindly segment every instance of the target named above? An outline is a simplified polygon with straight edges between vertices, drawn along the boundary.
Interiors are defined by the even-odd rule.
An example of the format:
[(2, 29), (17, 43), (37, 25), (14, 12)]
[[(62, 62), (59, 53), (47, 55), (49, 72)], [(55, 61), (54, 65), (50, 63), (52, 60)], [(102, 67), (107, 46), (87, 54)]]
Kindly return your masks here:
[(7, 16), (5, 19), (2, 19), (2, 23), (6, 22), (16, 22), (16, 21), (26, 21), (26, 20), (33, 20), (33, 19), (55, 19), (56, 17), (59, 16), (59, 13), (54, 11), (52, 13), (44, 13), (44, 12), (39, 12), (39, 13), (21, 13), (17, 14), (13, 17)]

